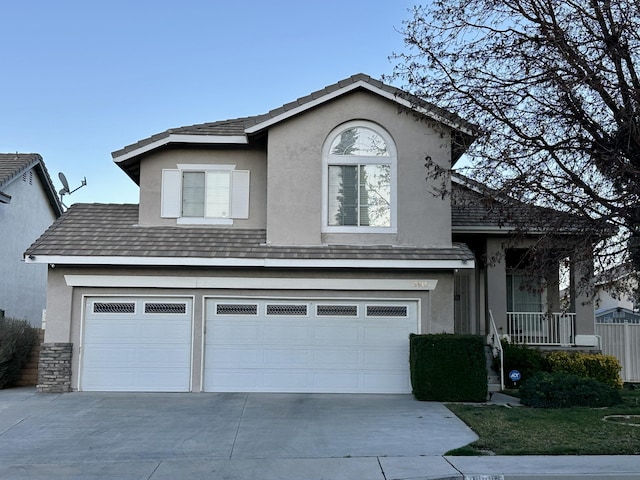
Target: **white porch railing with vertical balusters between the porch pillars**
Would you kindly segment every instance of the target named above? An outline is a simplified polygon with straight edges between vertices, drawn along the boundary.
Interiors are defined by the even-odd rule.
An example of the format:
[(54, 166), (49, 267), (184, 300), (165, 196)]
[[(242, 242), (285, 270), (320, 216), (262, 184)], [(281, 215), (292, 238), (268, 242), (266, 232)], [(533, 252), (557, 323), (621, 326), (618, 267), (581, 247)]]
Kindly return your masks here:
[(575, 313), (507, 312), (513, 343), (569, 346), (575, 339)]

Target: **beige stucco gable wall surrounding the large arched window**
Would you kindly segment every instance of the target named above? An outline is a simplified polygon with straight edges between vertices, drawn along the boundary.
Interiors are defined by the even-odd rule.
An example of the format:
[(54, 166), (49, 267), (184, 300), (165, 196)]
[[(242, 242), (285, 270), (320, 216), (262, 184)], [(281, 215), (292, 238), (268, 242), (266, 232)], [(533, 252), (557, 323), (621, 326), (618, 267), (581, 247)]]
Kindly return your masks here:
[[(374, 122), (395, 142), (397, 234), (321, 234), (322, 147), (332, 130), (351, 120)], [(397, 104), (368, 92), (351, 93), (273, 126), (268, 145), (267, 241), (276, 245), (450, 245), (450, 204), (429, 191), (426, 156), (449, 165), (448, 132), (441, 135), (433, 125), (399, 113)]]

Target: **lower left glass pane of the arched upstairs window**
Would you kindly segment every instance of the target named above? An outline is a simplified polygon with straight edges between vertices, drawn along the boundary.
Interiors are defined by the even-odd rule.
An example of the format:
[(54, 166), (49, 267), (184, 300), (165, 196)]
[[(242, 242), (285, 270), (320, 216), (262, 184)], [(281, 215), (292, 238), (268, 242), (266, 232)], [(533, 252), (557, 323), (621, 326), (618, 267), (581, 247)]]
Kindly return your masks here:
[(329, 166), (329, 225), (358, 225), (358, 167)]

